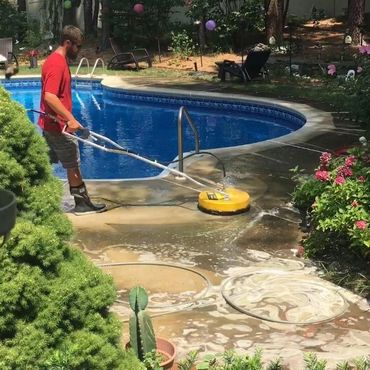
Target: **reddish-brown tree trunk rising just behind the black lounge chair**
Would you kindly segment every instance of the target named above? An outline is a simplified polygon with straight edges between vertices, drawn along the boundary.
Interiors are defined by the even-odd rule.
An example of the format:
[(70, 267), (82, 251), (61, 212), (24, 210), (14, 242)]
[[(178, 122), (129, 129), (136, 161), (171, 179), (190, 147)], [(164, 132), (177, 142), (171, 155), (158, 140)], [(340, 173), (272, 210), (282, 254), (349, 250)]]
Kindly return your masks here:
[(265, 0), (266, 37), (275, 37), (278, 45), (283, 41), (283, 17), (284, 0)]

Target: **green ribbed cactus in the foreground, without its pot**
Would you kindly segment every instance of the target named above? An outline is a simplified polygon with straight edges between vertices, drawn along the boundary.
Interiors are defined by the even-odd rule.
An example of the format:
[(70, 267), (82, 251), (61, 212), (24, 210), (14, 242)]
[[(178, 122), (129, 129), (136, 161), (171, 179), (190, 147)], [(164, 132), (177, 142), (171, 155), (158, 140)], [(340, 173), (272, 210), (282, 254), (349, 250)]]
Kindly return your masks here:
[(145, 312), (148, 294), (142, 287), (134, 287), (129, 293), (132, 314), (129, 321), (130, 346), (140, 361), (145, 354), (156, 349), (156, 341), (150, 316)]

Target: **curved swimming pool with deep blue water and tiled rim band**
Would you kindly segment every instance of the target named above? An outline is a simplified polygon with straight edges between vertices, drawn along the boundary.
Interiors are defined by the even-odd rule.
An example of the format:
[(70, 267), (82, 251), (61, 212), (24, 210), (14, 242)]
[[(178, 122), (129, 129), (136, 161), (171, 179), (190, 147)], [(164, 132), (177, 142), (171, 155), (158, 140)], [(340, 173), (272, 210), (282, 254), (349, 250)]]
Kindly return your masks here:
[[(3, 82), (27, 109), (39, 109), (40, 83)], [(185, 106), (199, 131), (201, 150), (235, 147), (289, 134), (305, 117), (283, 107), (256, 102), (233, 102), (207, 97), (129, 92), (87, 83), (73, 90), (74, 114), (89, 129), (121, 146), (161, 163), (177, 156), (177, 115)], [(33, 122), (37, 114), (29, 113)], [(156, 176), (161, 170), (133, 158), (81, 145), (81, 169), (86, 179), (131, 179)], [(184, 150), (194, 150), (194, 136), (184, 125)], [(57, 176), (64, 178), (61, 166)]]

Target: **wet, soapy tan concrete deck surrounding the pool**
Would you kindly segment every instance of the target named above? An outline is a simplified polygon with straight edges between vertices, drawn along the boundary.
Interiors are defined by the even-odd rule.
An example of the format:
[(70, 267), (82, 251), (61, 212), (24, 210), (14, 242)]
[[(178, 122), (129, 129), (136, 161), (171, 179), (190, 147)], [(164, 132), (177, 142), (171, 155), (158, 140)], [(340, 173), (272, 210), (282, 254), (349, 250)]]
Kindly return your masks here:
[[(127, 80), (114, 77), (115, 86), (127, 88)], [(130, 79), (131, 86), (144, 89), (166, 83)], [(171, 83), (191, 94), (212, 89), (228, 95), (213, 84)], [(327, 112), (304, 109), (317, 120), (304, 135), (218, 153), (227, 181), (251, 195), (247, 213), (202, 213), (193, 186), (174, 185), (172, 176), (89, 182), (91, 195), (104, 199), (108, 212), (68, 215), (75, 244), (113, 276), (120, 297), (113, 310), (123, 322), (123, 342), (128, 337), (126, 291), (141, 284), (151, 293), (156, 334), (177, 345), (178, 358), (193, 349), (252, 353), (261, 348), (264, 359), (282, 357), (290, 369), (300, 370), (304, 352), (316, 352), (330, 369), (341, 360), (369, 355), (369, 303), (323, 281), (310, 261), (294, 256), (302, 234), (289, 203), (289, 169), (312, 170), (319, 150), (351, 144), (361, 131), (349, 122), (333, 124)], [(209, 156), (187, 164), (186, 173), (222, 178), (220, 165)]]

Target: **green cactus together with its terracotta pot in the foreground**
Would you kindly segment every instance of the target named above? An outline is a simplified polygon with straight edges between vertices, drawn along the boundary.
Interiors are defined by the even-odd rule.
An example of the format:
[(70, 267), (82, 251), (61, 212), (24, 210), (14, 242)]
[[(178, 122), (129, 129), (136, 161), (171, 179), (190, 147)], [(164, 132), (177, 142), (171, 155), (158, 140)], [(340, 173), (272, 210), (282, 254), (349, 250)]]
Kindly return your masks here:
[(156, 362), (159, 368), (172, 369), (176, 348), (170, 341), (155, 337), (151, 318), (145, 312), (148, 305), (148, 294), (145, 289), (139, 286), (132, 288), (129, 303), (132, 313), (129, 321), (130, 342), (126, 347), (132, 348), (140, 361), (145, 363), (152, 360), (153, 369), (156, 369)]

